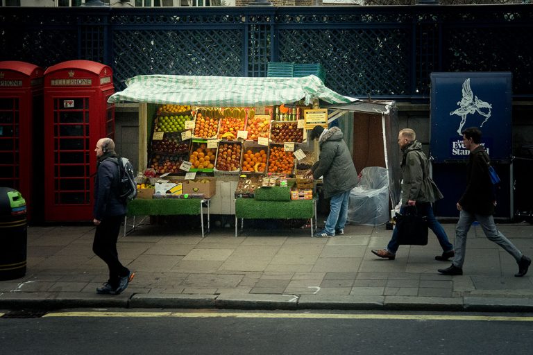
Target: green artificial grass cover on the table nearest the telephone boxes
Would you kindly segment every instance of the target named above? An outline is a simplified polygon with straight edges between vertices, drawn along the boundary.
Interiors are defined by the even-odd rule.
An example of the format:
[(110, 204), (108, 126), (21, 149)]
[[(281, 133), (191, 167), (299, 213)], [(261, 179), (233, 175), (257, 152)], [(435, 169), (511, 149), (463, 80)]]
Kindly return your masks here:
[(172, 214), (200, 214), (200, 198), (137, 198), (128, 202), (127, 216), (169, 216)]

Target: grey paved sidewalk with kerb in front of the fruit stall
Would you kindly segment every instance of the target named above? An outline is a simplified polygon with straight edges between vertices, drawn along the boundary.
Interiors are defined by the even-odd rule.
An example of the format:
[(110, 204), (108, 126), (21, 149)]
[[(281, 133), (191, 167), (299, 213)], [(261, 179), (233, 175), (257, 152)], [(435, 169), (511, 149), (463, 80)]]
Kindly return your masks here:
[[(222, 223), (224, 224), (224, 223)], [(440, 275), (441, 254), (430, 232), (425, 246), (401, 246), (396, 260), (378, 259), (391, 231), (348, 225), (346, 234), (311, 238), (309, 227), (257, 227), (245, 220), (215, 227), (179, 219), (144, 224), (119, 237), (119, 257), (136, 272), (121, 295), (97, 295), (107, 268), (92, 252), (94, 226), (28, 227), (28, 267), (0, 281), (0, 309), (201, 308), (533, 311), (533, 270), (514, 277), (516, 261), (488, 241), (479, 226), (468, 234), (464, 275)], [(443, 224), (450, 241), (455, 224)], [(526, 255), (533, 225), (499, 224)]]

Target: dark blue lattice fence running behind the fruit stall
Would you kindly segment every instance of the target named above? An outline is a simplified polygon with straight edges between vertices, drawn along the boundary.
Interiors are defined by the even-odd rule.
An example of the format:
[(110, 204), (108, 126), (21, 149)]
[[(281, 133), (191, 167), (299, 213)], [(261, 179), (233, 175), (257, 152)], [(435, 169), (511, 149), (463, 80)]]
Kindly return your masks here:
[(266, 76), (320, 63), (349, 96), (428, 100), (432, 71), (511, 71), (533, 98), (533, 5), (2, 8), (0, 60), (110, 65), (139, 74)]

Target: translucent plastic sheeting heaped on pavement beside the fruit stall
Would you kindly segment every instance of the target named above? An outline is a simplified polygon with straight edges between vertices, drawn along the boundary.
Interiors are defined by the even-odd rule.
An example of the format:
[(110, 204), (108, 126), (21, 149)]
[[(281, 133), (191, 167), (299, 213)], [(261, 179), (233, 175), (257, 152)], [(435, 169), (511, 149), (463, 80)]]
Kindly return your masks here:
[(350, 191), (348, 223), (382, 225), (389, 221), (387, 169), (368, 166), (361, 171), (359, 184)]

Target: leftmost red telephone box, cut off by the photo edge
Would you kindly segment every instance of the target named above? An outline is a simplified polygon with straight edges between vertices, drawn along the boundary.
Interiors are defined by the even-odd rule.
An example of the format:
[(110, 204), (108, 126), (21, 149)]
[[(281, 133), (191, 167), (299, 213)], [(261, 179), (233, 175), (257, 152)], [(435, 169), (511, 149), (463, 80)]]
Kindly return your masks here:
[(33, 132), (42, 135), (43, 74), (34, 64), (0, 62), (0, 186), (22, 193), (28, 220), (38, 209), (34, 207), (38, 199), (33, 184), (42, 184), (34, 166), (42, 164), (42, 157), (34, 157), (33, 152), (34, 148), (42, 152), (38, 146), (42, 139), (33, 137)]

